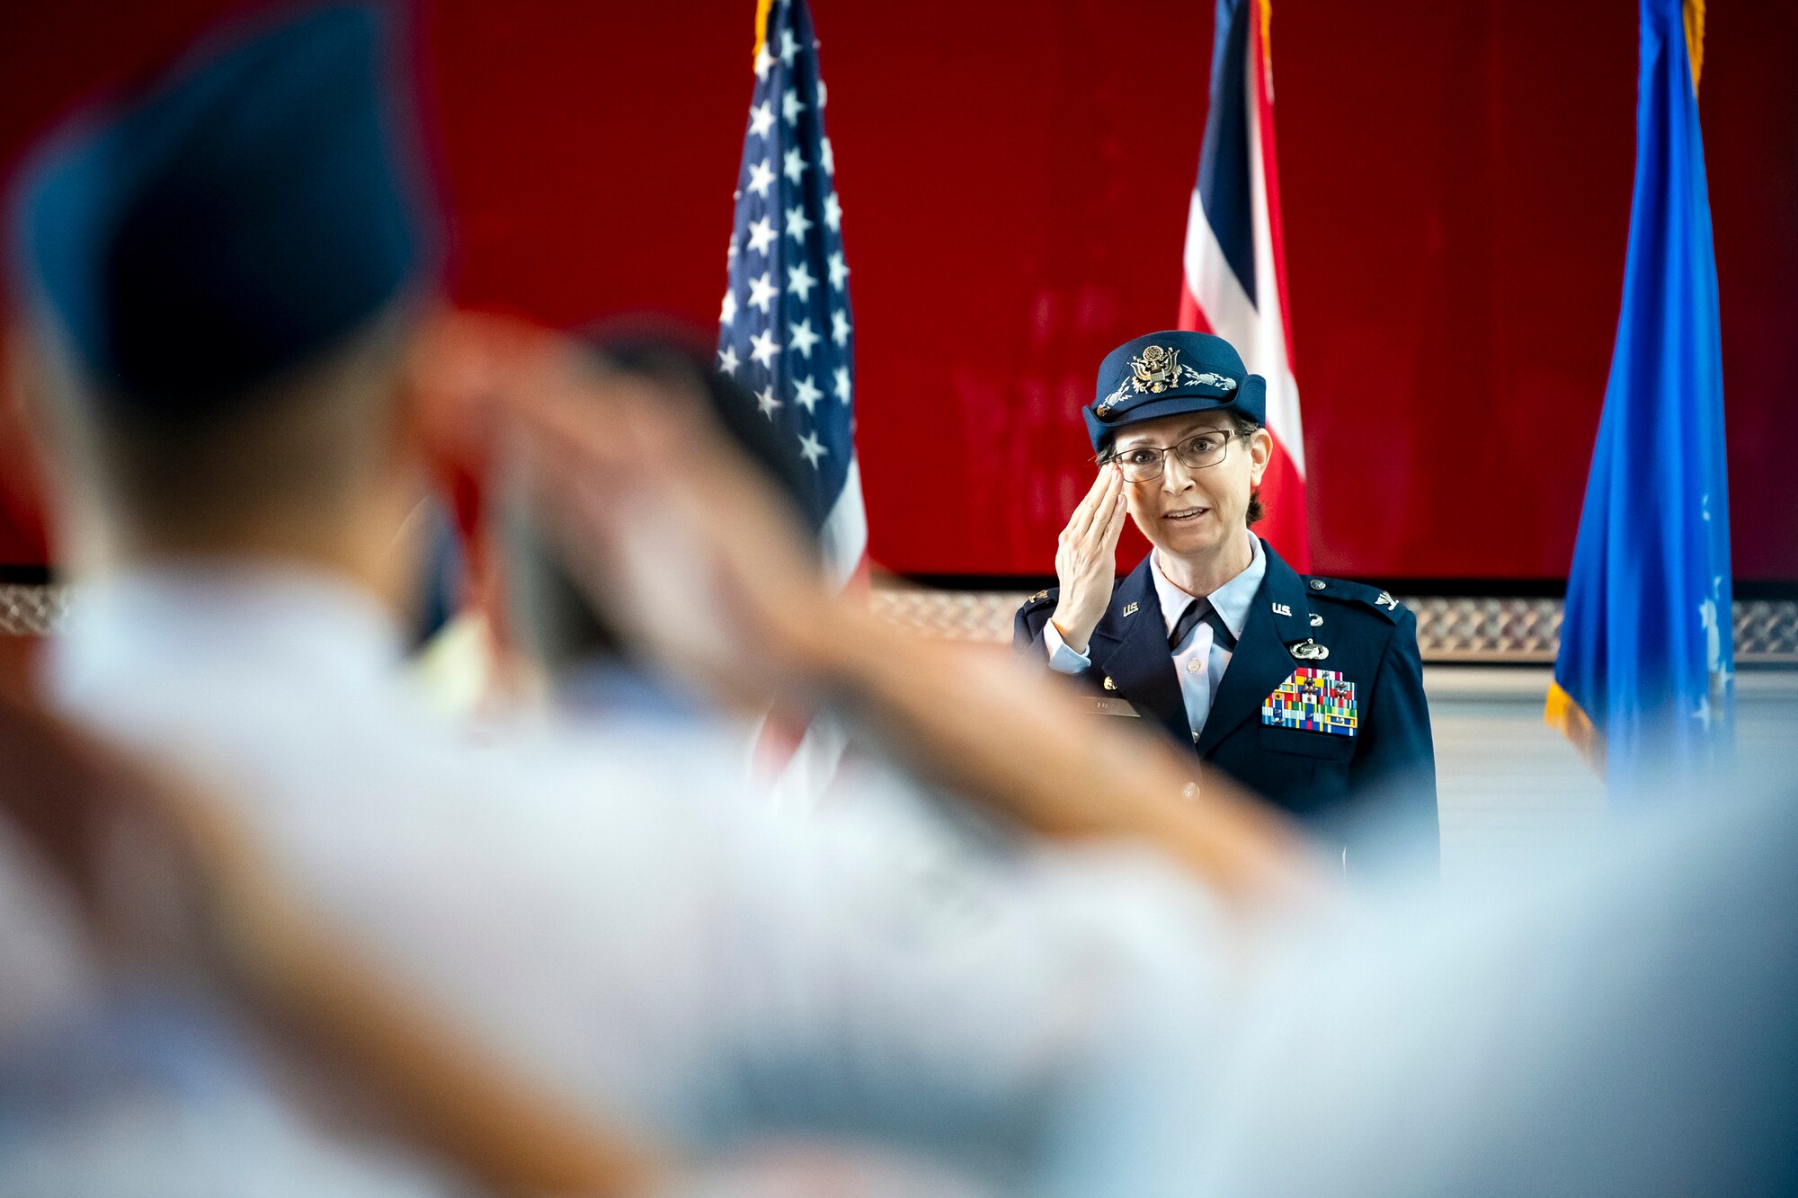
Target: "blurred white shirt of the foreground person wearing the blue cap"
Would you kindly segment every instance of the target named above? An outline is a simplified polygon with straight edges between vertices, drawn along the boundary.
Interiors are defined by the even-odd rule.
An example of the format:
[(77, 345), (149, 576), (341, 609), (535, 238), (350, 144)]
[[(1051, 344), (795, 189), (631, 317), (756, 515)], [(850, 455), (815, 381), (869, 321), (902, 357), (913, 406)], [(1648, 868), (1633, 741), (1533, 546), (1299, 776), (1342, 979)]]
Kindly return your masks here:
[(68, 711), (219, 782), (399, 980), (626, 1128), (1068, 1175), (1122, 1151), (1138, 1083), (1215, 1054), (1215, 912), (1147, 854), (770, 820), (725, 736), (469, 745), (405, 691), (390, 621), (316, 576), (95, 583), (52, 649)]

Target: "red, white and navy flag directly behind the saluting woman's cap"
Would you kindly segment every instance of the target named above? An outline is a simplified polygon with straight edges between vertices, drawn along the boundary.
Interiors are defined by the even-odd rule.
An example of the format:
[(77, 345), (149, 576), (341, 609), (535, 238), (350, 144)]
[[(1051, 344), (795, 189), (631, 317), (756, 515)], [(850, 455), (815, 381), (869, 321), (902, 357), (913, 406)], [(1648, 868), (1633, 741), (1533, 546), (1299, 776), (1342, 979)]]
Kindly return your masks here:
[(1286, 315), (1280, 174), (1273, 153), (1271, 0), (1217, 0), (1212, 103), (1199, 182), (1187, 212), (1179, 327), (1215, 333), (1268, 380), (1273, 460), (1260, 482), (1259, 529), (1296, 568), (1311, 568), (1305, 434)]

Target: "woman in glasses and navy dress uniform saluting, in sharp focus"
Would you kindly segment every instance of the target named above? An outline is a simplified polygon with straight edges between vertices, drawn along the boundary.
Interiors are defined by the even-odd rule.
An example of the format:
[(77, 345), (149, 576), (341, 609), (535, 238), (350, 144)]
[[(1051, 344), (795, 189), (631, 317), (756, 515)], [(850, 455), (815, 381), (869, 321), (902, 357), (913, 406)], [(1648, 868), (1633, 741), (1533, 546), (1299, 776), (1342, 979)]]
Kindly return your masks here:
[[(1012, 640), (1334, 844), (1348, 804), (1379, 793), (1435, 851), (1417, 619), (1383, 590), (1295, 574), (1250, 531), (1264, 408), (1266, 381), (1223, 338), (1111, 351), (1082, 408), (1099, 478), (1061, 532), (1059, 586), (1019, 608)], [(1154, 549), (1113, 588), (1126, 511)]]

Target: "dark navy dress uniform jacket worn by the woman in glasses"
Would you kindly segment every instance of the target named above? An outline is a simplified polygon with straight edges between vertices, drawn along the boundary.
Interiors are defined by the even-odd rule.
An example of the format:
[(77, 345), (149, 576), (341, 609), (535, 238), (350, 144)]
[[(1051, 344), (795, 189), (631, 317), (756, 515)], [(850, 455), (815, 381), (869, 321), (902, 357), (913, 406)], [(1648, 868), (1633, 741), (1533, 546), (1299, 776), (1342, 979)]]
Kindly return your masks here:
[[(1268, 574), (1197, 734), (1187, 721), (1149, 558), (1113, 590), (1086, 649), (1091, 667), (1082, 684), (1095, 694), (1127, 700), (1144, 720), (1331, 844), (1348, 844), (1354, 833), (1341, 829), (1343, 817), (1357, 799), (1377, 795), (1401, 806), (1406, 833), (1435, 853), (1435, 748), (1417, 617), (1383, 590), (1300, 576), (1266, 541), (1262, 550)], [(1025, 601), (1012, 626), (1014, 648), (1037, 662), (1046, 660), (1043, 628), (1057, 592)], [(1329, 653), (1295, 657), (1295, 646), (1309, 655), (1323, 646)], [(1298, 669), (1329, 671), (1352, 684), (1352, 734), (1291, 727), (1291, 718), (1264, 711)]]

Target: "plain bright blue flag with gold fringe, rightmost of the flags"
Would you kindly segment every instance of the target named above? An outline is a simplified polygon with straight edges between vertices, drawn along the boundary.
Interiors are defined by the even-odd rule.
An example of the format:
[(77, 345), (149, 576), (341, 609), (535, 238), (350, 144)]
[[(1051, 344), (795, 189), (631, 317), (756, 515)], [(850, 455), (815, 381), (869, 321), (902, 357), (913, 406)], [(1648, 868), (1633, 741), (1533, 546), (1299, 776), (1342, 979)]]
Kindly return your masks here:
[(1642, 0), (1624, 309), (1548, 696), (1550, 721), (1604, 763), (1618, 799), (1733, 748), (1730, 493), (1697, 122), (1701, 49), (1697, 0)]

